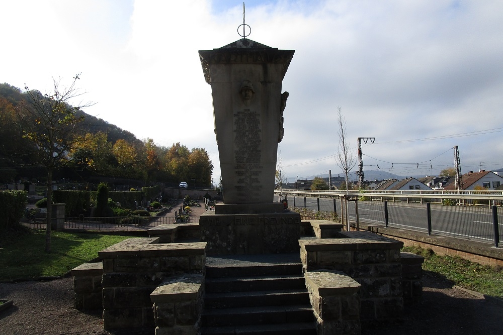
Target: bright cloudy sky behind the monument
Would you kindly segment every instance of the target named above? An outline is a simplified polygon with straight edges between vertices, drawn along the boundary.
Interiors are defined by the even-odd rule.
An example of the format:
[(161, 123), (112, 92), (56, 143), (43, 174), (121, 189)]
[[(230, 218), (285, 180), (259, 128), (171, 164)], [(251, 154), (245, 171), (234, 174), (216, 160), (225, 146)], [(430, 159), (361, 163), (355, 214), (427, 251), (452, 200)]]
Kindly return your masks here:
[[(241, 39), (242, 1), (0, 0), (0, 82), (43, 93), (80, 73), (86, 113), (159, 146), (205, 148), (220, 177), (199, 50)], [(279, 144), (289, 182), (342, 176), (337, 108), (365, 171), (503, 168), (500, 0), (245, 1), (247, 37), (295, 54)], [(352, 171), (357, 171), (356, 165)]]

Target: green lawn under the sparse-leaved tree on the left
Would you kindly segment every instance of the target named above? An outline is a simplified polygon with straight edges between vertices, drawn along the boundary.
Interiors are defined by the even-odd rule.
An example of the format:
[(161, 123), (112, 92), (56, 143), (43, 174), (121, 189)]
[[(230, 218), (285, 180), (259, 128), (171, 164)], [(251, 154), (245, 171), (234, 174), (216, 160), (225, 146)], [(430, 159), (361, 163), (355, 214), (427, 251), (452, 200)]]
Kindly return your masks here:
[(63, 276), (127, 238), (130, 236), (52, 232), (51, 253), (45, 253), (45, 230), (4, 236), (0, 238), (0, 281)]

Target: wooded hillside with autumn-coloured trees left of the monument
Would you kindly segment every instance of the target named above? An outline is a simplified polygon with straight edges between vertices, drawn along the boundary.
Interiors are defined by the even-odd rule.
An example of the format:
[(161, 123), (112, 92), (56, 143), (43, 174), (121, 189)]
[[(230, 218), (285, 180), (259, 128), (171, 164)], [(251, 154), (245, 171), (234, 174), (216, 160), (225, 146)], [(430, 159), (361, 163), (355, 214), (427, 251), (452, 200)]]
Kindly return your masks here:
[[(141, 180), (145, 184), (178, 185), (180, 181), (195, 179), (199, 186), (211, 185), (213, 165), (204, 148), (189, 149), (180, 143), (162, 147), (152, 139), (139, 140), (132, 133), (66, 103), (58, 107), (59, 119), (54, 120), (53, 114), (53, 120), (49, 120), (51, 116), (45, 111), (35, 113), (30, 109), (36, 109), (33, 99), (39, 100), (42, 110), (47, 106), (49, 110), (55, 108), (50, 106), (56, 99), (37, 90), (21, 91), (8, 83), (0, 84), (0, 183), (43, 180), (47, 166), (41, 154), (47, 156), (49, 152), (51, 156), (58, 152), (64, 159), (59, 161), (61, 168), (56, 169), (54, 180), (69, 178), (80, 182), (103, 176)], [(72, 128), (66, 133), (71, 146), (63, 146), (69, 138), (51, 141), (47, 149), (47, 141), (33, 141), (33, 137), (44, 139), (44, 134), (51, 132), (47, 125), (54, 125), (54, 121), (56, 125), (65, 123), (67, 117), (78, 123), (78, 130)], [(23, 126), (30, 128), (31, 133)]]

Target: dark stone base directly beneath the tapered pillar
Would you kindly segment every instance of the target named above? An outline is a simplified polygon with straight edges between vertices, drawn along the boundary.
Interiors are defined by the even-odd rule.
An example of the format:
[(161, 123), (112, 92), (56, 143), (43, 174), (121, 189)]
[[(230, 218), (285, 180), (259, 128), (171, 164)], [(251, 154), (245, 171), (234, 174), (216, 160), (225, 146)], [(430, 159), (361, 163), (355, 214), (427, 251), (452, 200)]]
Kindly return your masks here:
[(223, 205), (215, 206), (214, 212), (203, 213), (199, 220), (199, 234), (200, 241), (208, 244), (206, 254), (299, 252), (300, 214), (283, 211), (283, 204), (281, 207), (276, 205)]

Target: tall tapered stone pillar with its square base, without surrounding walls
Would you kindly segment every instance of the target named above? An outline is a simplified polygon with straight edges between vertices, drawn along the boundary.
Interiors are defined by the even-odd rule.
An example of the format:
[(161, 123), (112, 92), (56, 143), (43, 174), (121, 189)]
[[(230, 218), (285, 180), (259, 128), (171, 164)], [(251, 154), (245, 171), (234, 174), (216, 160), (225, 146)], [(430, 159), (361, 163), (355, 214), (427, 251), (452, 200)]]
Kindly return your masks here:
[(298, 251), (300, 215), (274, 203), (278, 143), (294, 50), (243, 38), (199, 51), (211, 85), (224, 203), (200, 220), (208, 254)]

